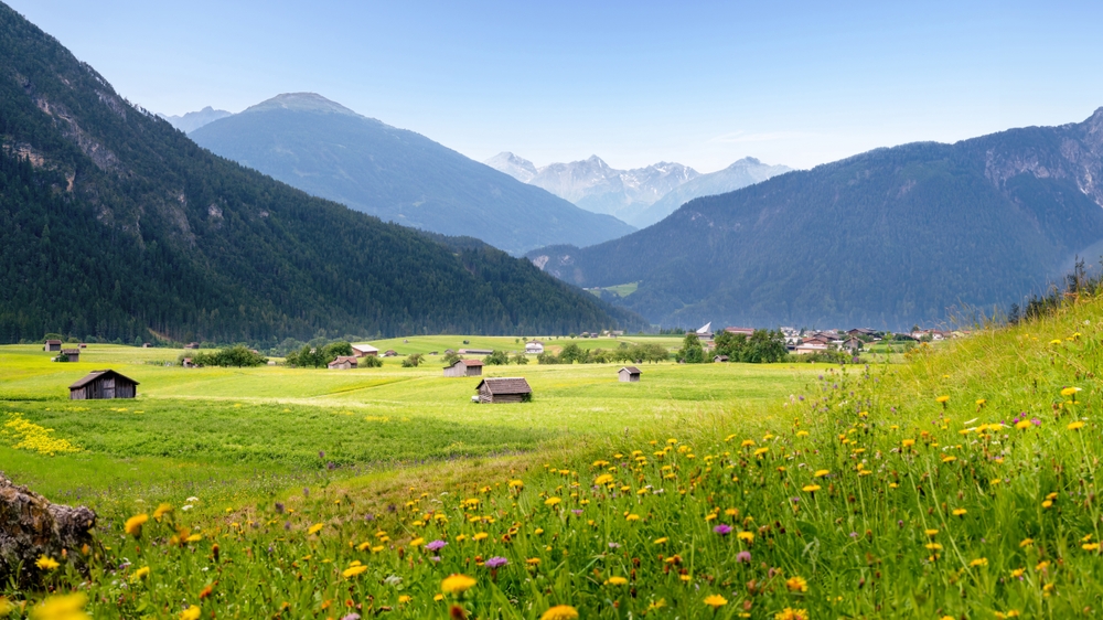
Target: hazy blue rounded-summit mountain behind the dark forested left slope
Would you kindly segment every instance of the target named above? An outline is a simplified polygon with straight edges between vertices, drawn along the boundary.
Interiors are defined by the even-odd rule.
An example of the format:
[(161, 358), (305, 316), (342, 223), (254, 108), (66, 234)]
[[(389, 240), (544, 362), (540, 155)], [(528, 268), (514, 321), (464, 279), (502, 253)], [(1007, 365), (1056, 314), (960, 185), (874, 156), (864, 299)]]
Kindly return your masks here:
[(279, 95), (189, 137), (315, 196), (422, 231), (475, 237), (515, 255), (634, 231), (313, 93)]

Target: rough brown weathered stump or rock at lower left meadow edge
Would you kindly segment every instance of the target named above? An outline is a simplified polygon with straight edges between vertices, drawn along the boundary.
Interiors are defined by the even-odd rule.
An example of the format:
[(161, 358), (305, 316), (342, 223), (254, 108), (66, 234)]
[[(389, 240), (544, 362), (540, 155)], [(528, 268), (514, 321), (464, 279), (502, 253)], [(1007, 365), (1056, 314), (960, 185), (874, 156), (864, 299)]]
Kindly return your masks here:
[(93, 545), (95, 525), (92, 509), (52, 504), (0, 473), (0, 582), (41, 582), (44, 571), (35, 563), (42, 556), (83, 567), (82, 549)]

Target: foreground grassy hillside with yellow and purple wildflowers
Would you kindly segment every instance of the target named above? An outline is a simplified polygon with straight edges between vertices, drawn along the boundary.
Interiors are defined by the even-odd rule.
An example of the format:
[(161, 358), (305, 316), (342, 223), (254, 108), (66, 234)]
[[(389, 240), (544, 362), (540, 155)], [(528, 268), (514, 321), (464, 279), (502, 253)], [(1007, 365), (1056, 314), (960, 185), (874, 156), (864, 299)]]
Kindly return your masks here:
[[(131, 506), (103, 548), (28, 569), (45, 605), (104, 618), (1092, 616), (1101, 322), (1081, 293), (906, 364), (825, 367), (753, 420), (473, 480)], [(44, 596), (0, 609), (60, 618)]]

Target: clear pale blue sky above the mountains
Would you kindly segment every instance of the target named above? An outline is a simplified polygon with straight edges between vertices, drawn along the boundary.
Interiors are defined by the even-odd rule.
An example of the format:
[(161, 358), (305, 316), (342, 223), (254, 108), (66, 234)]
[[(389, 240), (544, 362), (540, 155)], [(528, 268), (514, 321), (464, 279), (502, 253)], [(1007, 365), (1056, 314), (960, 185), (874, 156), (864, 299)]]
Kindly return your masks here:
[(478, 160), (807, 168), (1103, 106), (1099, 0), (8, 1), (151, 110), (310, 90)]

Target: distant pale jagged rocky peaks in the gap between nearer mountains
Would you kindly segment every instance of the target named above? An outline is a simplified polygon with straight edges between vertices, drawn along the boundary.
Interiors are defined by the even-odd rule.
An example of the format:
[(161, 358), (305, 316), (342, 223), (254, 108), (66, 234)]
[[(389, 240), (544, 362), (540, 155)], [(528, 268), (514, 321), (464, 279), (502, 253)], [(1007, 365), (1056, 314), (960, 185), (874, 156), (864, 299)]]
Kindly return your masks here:
[(791, 170), (784, 165), (767, 165), (754, 158), (741, 159), (709, 174), (665, 161), (617, 170), (597, 156), (537, 168), (511, 152), (499, 153), (485, 163), (582, 209), (614, 215), (641, 228), (666, 217), (688, 200), (746, 188)]

